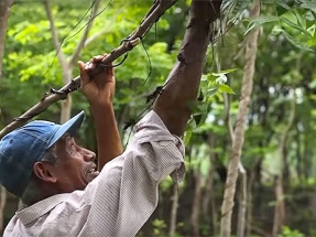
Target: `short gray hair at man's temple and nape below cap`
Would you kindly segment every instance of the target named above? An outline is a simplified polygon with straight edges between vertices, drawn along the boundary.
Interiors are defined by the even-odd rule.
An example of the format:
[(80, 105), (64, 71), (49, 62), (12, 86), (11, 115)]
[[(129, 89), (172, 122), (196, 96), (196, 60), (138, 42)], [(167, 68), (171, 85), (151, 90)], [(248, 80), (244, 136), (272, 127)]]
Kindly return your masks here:
[[(53, 147), (47, 149), (40, 161), (56, 164), (57, 162), (56, 146), (54, 144)], [(32, 173), (29, 184), (21, 196), (21, 201), (23, 203), (23, 206), (30, 206), (34, 203), (37, 203), (41, 200), (42, 195), (41, 195), (41, 188), (37, 183), (37, 177), (34, 175), (34, 173)]]

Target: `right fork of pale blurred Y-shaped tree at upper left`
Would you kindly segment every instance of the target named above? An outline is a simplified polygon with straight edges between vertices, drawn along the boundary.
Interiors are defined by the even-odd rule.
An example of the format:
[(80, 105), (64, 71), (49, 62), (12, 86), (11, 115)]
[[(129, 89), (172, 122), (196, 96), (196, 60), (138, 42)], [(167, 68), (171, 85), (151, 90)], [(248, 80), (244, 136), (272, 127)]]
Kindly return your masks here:
[(89, 18), (89, 21), (88, 21), (88, 24), (84, 31), (84, 34), (80, 39), (80, 42), (78, 43), (74, 54), (72, 55), (70, 60), (69, 60), (69, 65), (74, 65), (76, 63), (76, 60), (78, 58), (81, 50), (84, 49), (84, 45), (85, 45), (85, 42), (88, 37), (88, 33), (94, 24), (94, 20), (97, 15), (97, 12), (98, 12), (98, 8), (99, 8), (99, 3), (100, 3), (100, 0), (94, 0), (94, 7), (91, 9), (91, 14), (90, 14), (90, 18)]

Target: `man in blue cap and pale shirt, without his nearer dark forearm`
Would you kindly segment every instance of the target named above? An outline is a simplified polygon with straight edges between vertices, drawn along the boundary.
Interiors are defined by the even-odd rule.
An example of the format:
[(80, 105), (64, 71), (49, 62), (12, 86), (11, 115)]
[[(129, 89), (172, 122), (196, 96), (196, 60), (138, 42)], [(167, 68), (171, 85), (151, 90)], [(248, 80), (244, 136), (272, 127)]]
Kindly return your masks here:
[(170, 174), (182, 180), (183, 143), (166, 128), (174, 112), (159, 103), (135, 126), (122, 153), (112, 109), (113, 68), (89, 77), (101, 58), (79, 62), (99, 171), (95, 153), (73, 138), (84, 112), (62, 126), (33, 121), (7, 134), (0, 141), (0, 182), (26, 207), (17, 212), (3, 236), (134, 236), (157, 205), (159, 182)]

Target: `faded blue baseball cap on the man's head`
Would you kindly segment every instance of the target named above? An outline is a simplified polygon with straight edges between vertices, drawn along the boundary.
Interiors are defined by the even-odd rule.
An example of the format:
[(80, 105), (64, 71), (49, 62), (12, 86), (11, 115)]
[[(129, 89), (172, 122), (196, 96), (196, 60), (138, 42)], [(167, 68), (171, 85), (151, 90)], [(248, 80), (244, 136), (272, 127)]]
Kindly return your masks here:
[(33, 165), (65, 133), (74, 136), (84, 118), (85, 112), (80, 111), (63, 125), (35, 120), (4, 136), (0, 141), (0, 183), (21, 197)]

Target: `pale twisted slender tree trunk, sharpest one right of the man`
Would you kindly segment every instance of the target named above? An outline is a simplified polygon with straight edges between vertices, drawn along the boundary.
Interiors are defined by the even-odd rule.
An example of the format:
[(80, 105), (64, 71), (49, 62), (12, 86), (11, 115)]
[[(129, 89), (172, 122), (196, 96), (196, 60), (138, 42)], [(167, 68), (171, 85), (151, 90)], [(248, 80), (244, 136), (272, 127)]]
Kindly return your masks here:
[[(252, 19), (260, 14), (260, 2), (255, 1), (250, 15)], [(220, 236), (230, 237), (231, 235), (231, 215), (233, 208), (233, 197), (236, 192), (236, 182), (238, 177), (238, 164), (240, 162), (241, 149), (243, 146), (244, 122), (249, 110), (250, 96), (252, 91), (252, 80), (254, 75), (255, 55), (258, 50), (259, 28), (249, 33), (246, 46), (246, 63), (242, 78), (241, 100), (237, 115), (236, 128), (233, 131), (232, 152), (228, 165), (226, 188), (221, 206)]]

